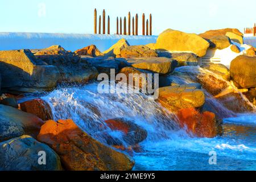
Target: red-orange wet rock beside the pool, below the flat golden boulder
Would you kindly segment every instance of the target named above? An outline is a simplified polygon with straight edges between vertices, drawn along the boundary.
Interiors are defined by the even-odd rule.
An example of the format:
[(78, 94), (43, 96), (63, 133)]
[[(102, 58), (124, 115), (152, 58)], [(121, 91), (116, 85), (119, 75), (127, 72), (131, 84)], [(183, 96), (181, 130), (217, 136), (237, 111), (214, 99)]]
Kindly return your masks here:
[(201, 114), (194, 108), (186, 108), (179, 110), (177, 117), (180, 126), (185, 127), (193, 136), (213, 138), (218, 135), (218, 123), (214, 113), (205, 111)]

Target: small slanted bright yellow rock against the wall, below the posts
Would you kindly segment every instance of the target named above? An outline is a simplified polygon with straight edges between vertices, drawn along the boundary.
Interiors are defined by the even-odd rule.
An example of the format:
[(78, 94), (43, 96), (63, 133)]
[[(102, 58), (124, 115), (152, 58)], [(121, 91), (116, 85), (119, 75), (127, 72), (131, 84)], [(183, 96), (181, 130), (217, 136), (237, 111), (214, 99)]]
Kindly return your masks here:
[(130, 46), (130, 44), (125, 39), (118, 40), (117, 43), (115, 43), (112, 47), (110, 47), (108, 50), (104, 51), (104, 55), (107, 57), (110, 56), (117, 56), (120, 55), (121, 49)]

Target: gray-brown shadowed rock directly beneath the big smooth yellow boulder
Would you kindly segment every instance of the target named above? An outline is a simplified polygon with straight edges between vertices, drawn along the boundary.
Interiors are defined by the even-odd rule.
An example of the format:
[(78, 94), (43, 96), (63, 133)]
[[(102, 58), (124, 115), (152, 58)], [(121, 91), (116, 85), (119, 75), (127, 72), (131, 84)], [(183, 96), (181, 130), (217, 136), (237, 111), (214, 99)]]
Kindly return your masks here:
[(177, 67), (197, 66), (198, 58), (194, 53), (189, 52), (158, 52), (159, 57), (168, 57), (177, 61)]

